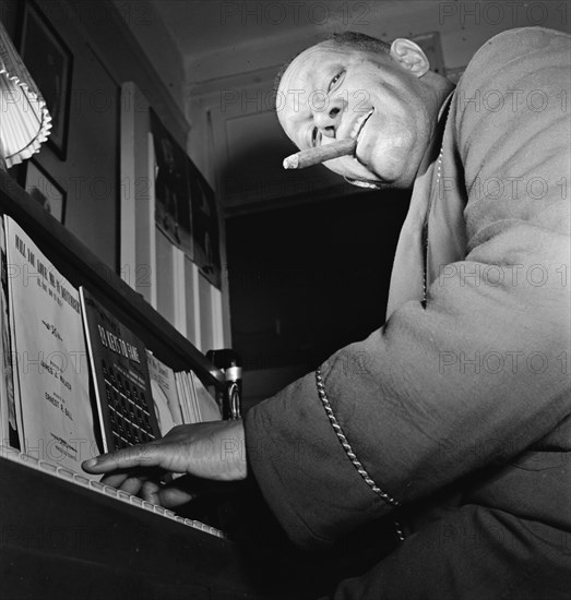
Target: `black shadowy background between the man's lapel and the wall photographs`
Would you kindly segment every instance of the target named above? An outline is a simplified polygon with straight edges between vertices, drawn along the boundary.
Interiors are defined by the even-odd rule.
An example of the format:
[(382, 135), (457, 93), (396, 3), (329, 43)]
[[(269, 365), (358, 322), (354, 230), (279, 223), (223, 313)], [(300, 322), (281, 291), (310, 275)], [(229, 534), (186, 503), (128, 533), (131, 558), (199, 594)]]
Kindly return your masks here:
[(233, 346), (246, 370), (313, 369), (383, 324), (408, 201), (357, 193), (227, 219)]

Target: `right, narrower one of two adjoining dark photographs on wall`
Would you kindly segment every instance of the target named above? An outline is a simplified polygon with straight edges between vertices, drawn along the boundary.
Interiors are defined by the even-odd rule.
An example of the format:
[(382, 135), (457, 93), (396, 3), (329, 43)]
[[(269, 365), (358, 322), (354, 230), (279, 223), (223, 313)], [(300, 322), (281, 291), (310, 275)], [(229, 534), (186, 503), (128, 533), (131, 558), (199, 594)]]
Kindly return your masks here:
[(194, 225), (194, 262), (211, 284), (221, 288), (221, 244), (218, 211), (213, 189), (204, 176), (189, 160)]

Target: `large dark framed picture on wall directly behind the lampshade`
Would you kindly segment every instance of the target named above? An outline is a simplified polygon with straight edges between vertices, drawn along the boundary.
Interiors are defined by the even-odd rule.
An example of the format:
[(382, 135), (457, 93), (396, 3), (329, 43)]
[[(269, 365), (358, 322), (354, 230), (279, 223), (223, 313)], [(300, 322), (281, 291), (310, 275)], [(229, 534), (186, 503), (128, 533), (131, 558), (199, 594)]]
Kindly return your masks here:
[(23, 4), (20, 53), (51, 115), (52, 127), (48, 145), (59, 158), (64, 160), (73, 56), (58, 32), (32, 0), (25, 0)]

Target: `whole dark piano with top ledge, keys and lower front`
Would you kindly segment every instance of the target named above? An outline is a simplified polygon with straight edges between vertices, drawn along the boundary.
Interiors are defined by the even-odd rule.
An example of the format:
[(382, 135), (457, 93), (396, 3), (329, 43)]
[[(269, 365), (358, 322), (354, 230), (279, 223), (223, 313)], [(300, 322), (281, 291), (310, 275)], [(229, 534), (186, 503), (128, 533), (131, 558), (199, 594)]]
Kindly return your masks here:
[[(224, 389), (221, 371), (1, 171), (0, 212), (20, 223), (73, 285), (96, 289), (157, 358), (175, 370), (192, 369), (206, 385)], [(319, 596), (309, 563), (283, 540), (274, 541), (279, 536), (262, 542), (254, 526), (250, 537), (240, 527), (233, 537), (212, 519), (206, 523), (200, 511), (199, 516), (177, 515), (5, 442), (0, 441), (2, 599)], [(231, 518), (231, 494), (209, 502), (218, 516), (225, 508), (230, 514), (222, 519), (229, 529), (240, 520)]]

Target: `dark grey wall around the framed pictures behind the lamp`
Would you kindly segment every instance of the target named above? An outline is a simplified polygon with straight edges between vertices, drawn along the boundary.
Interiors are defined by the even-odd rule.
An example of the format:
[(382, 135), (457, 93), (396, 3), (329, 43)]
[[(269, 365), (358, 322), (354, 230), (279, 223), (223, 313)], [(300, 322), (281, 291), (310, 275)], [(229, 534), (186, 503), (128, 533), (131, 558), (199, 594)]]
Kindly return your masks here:
[[(64, 225), (111, 271), (118, 263), (119, 237), (119, 83), (85, 39), (83, 22), (64, 4), (34, 2), (72, 56), (71, 89), (67, 99), (69, 129), (66, 153), (43, 144), (36, 161), (66, 193)], [(20, 47), (24, 2), (9, 0), (3, 20)], [(19, 48), (20, 49), (20, 48)], [(48, 107), (49, 108), (49, 107)], [(23, 184), (28, 161), (10, 170)], [(50, 188), (46, 184), (46, 195)]]

